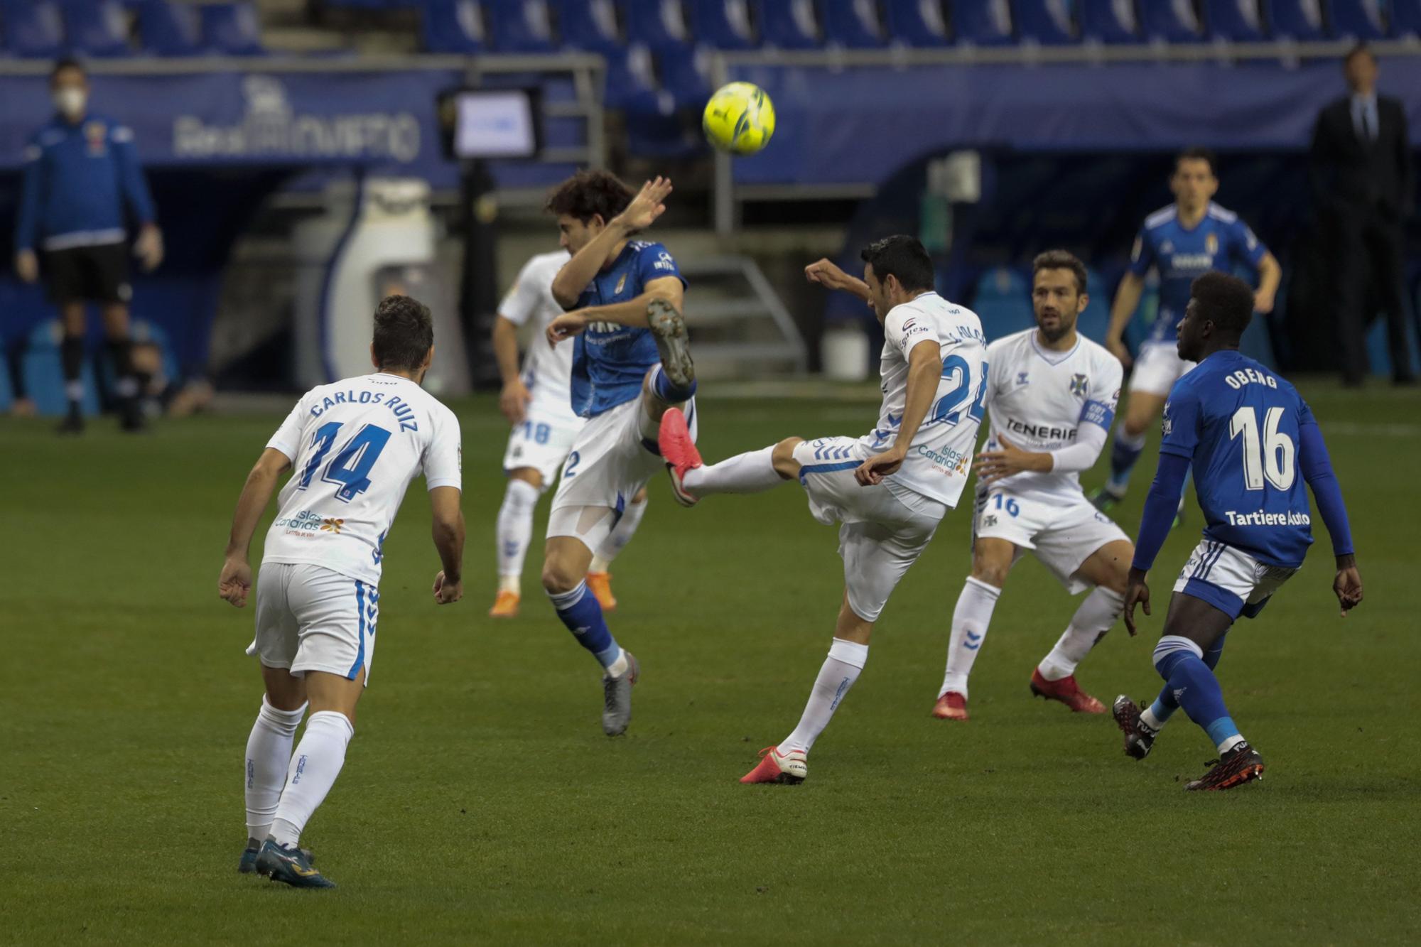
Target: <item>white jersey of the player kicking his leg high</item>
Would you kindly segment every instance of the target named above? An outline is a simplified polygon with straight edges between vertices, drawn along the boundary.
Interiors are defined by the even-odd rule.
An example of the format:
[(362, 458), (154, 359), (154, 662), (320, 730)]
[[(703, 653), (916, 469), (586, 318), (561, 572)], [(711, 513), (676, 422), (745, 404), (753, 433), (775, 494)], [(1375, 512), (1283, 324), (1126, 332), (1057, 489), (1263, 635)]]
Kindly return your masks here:
[(972, 469), (988, 371), (982, 321), (972, 310), (924, 293), (888, 311), (880, 363), (884, 404), (878, 425), (860, 444), (871, 454), (892, 446), (908, 397), (908, 353), (924, 340), (938, 343), (942, 375), (907, 459), (885, 482), (956, 506)]

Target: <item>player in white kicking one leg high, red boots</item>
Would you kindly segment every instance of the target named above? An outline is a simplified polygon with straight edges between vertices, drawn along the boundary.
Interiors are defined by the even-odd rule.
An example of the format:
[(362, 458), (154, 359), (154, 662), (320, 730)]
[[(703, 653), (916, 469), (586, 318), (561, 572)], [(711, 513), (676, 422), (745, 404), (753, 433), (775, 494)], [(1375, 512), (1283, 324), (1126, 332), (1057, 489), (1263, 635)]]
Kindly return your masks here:
[(982, 398), (986, 338), (976, 314), (932, 291), (932, 260), (909, 236), (863, 252), (858, 280), (828, 260), (804, 273), (848, 290), (884, 324), (878, 424), (863, 438), (787, 438), (702, 466), (685, 418), (668, 411), (661, 451), (682, 505), (710, 493), (756, 493), (799, 479), (814, 519), (841, 523), (844, 599), (828, 658), (799, 725), (740, 782), (803, 782), (806, 758), (868, 658), (868, 638), (894, 587), (926, 549), (968, 481)]

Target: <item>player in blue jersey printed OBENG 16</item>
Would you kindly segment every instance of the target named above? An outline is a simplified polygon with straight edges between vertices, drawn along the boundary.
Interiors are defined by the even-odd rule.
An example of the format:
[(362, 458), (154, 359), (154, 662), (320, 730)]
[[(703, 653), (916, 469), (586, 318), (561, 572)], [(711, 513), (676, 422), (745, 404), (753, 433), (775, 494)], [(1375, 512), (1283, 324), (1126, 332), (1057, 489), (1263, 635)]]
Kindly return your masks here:
[(1361, 601), (1347, 508), (1322, 431), (1293, 385), (1238, 351), (1252, 310), (1253, 291), (1243, 280), (1206, 273), (1194, 282), (1178, 348), (1181, 358), (1199, 364), (1174, 387), (1164, 410), (1160, 469), (1125, 589), (1125, 627), (1134, 634), (1135, 606), (1150, 614), (1145, 577), (1192, 465), (1204, 540), (1174, 583), (1154, 651), (1165, 685), (1147, 708), (1125, 695), (1114, 705), (1125, 754), (1135, 759), (1144, 759), (1179, 707), (1204, 728), (1219, 759), (1185, 789), (1231, 789), (1263, 775), (1263, 759), (1229, 717), (1214, 668), (1235, 619), (1258, 616), (1303, 565), (1313, 542), (1304, 482), (1331, 535), (1333, 592), (1343, 616)]

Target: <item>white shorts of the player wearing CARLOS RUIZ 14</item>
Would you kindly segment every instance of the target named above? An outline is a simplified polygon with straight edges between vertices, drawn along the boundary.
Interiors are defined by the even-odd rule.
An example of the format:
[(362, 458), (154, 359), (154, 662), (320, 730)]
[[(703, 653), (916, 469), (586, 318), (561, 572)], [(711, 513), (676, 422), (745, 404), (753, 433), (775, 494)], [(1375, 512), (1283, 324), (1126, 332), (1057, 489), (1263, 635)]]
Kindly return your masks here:
[(325, 671), (369, 684), (379, 590), (323, 566), (264, 562), (257, 573), (257, 636), (247, 647), (296, 677)]

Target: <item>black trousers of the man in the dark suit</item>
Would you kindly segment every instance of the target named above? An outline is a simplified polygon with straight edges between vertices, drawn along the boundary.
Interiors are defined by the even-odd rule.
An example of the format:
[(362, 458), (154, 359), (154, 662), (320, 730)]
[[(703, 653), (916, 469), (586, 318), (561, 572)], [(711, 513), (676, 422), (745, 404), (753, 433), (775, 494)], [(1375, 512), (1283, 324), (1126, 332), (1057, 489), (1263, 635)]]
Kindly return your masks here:
[(1327, 223), (1336, 267), (1333, 286), (1343, 381), (1361, 384), (1367, 374), (1367, 326), (1376, 314), (1374, 307), (1387, 314), (1393, 377), (1411, 378), (1401, 220), (1380, 208), (1350, 206), (1334, 209)]

